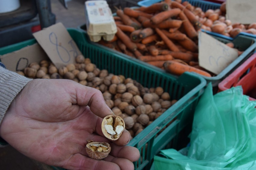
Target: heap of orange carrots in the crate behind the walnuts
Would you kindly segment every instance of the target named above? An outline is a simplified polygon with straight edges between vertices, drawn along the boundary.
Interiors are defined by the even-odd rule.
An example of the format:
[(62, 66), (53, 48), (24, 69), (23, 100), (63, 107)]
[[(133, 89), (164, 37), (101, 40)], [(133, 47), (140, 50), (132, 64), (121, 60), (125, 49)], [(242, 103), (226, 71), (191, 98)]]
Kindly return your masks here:
[(114, 39), (98, 43), (175, 75), (188, 71), (214, 76), (198, 63), (202, 24), (192, 7), (187, 1), (164, 0), (148, 7), (117, 9)]

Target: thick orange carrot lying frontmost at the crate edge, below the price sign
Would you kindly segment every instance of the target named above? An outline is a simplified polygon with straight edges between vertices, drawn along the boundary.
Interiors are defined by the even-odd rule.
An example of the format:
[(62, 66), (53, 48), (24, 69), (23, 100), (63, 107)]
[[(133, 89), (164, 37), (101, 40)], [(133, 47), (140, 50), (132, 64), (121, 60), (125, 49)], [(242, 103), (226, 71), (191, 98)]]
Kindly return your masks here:
[(206, 77), (211, 77), (208, 72), (175, 61), (166, 61), (163, 67), (167, 72), (175, 75), (181, 75), (184, 72), (195, 72)]

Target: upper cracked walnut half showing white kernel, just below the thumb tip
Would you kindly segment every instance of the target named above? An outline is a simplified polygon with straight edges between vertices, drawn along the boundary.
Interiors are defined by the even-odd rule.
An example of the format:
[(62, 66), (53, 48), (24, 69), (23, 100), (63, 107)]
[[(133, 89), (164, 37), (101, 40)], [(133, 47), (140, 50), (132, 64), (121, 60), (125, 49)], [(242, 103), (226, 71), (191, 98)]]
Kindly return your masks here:
[(108, 115), (102, 120), (102, 133), (108, 139), (119, 139), (119, 137), (122, 135), (124, 128), (125, 124), (120, 116)]

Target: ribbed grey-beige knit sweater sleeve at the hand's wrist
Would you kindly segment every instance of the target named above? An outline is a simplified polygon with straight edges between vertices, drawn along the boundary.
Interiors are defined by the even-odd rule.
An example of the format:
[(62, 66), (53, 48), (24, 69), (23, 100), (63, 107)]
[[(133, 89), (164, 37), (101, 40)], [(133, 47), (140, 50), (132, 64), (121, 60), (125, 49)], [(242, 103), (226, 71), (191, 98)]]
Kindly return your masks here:
[[(0, 65), (0, 125), (13, 99), (31, 80)], [(0, 147), (3, 146), (1, 143), (3, 141), (0, 139)]]

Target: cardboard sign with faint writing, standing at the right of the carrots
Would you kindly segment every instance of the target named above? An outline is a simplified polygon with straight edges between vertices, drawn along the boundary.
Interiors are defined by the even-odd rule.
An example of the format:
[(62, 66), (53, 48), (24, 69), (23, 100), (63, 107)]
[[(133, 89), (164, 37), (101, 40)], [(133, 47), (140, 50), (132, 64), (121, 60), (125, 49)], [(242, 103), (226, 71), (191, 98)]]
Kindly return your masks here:
[(218, 75), (238, 57), (238, 51), (200, 31), (198, 36), (199, 66)]

